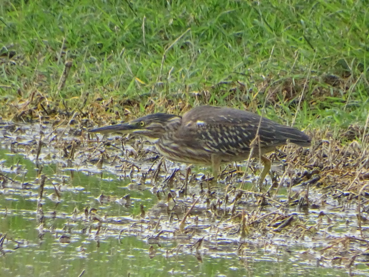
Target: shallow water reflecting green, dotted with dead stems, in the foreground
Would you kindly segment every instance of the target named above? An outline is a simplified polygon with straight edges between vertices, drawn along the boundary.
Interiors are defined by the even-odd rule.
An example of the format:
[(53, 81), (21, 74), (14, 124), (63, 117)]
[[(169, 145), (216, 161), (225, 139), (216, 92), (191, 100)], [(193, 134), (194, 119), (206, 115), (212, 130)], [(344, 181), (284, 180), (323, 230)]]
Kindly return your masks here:
[[(251, 223), (241, 235), (241, 221), (230, 216), (236, 191), (227, 191), (224, 180), (207, 194), (205, 184), (200, 191), (202, 177), (196, 173), (187, 196), (180, 196), (185, 165), (171, 185), (165, 180), (176, 164), (167, 163), (169, 169), (162, 169), (156, 182), (152, 175), (143, 178), (158, 163), (151, 159), (155, 154), (146, 151), (150, 146), (139, 150), (146, 151), (142, 156), (123, 154), (141, 170), (131, 164), (122, 168), (122, 161), (114, 158), (122, 150), (110, 146), (109, 157), (99, 166), (92, 158), (99, 159), (96, 142), (83, 142), (70, 159), (63, 154), (75, 139), (72, 129), (52, 130), (35, 125), (3, 131), (0, 263), (7, 276), (78, 276), (83, 270), (85, 276), (347, 276), (345, 265), (354, 250), (368, 247), (356, 239), (354, 201), (324, 198), (320, 209), (304, 212), (282, 208), (287, 190), (280, 189), (276, 201), (260, 209), (256, 194), (246, 197), (244, 192), (235, 210), (243, 211)], [(36, 158), (40, 140), (45, 146)], [(130, 145), (125, 150), (136, 151)], [(175, 202), (168, 200), (170, 191)], [(223, 215), (224, 202), (217, 203), (226, 191), (230, 203)], [(311, 192), (309, 197), (318, 203), (323, 195)], [(326, 216), (319, 216), (322, 211)], [(275, 226), (262, 224), (269, 215)], [(289, 216), (294, 223), (279, 230), (278, 224)], [(366, 232), (367, 226), (362, 227)], [(367, 262), (365, 255), (357, 256), (351, 272), (366, 276)]]

